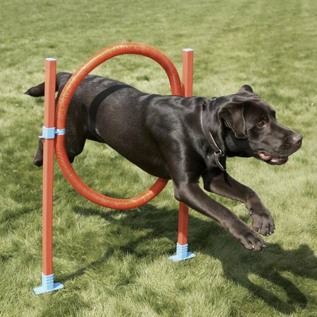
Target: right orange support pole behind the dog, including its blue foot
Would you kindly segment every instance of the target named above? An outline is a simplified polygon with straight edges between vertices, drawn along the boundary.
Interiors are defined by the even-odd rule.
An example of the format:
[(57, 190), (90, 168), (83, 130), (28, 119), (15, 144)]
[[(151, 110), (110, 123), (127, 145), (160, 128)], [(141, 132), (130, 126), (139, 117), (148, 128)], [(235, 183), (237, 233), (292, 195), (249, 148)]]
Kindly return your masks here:
[[(183, 50), (183, 95), (185, 97), (193, 96), (193, 60), (194, 50)], [(169, 257), (174, 262), (193, 258), (195, 255), (188, 252), (187, 243), (188, 232), (188, 207), (183, 202), (179, 202), (178, 211), (178, 239), (176, 244), (176, 254)]]

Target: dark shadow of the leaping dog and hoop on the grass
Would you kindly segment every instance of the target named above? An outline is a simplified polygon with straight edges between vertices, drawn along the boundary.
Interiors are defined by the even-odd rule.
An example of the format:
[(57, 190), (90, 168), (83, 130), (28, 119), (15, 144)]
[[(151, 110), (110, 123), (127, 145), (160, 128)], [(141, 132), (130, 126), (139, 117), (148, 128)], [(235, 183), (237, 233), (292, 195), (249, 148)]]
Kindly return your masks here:
[[(141, 238), (131, 239), (128, 243), (120, 245), (121, 250), (126, 253), (133, 253), (139, 257), (147, 256), (135, 251), (135, 248), (149, 239), (168, 238), (171, 241), (176, 240), (177, 230), (177, 213), (176, 209), (155, 208), (151, 204), (147, 204), (139, 208), (139, 212), (135, 210), (105, 210), (101, 211), (97, 208), (85, 209), (75, 207), (74, 211), (83, 216), (97, 215), (104, 218), (110, 223), (118, 223), (120, 226), (127, 227), (131, 230), (146, 230), (148, 233)], [(141, 214), (140, 214), (141, 212)], [(124, 217), (118, 217), (118, 215)], [(162, 219), (162, 222), (158, 220)], [(245, 219), (243, 219), (245, 220)], [(167, 227), (166, 223), (170, 225)], [(202, 220), (193, 216), (189, 216), (190, 230), (189, 241), (190, 251), (208, 254), (212, 258), (221, 261), (223, 267), (223, 275), (228, 280), (237, 283), (249, 291), (256, 297), (263, 300), (267, 305), (275, 308), (277, 311), (290, 314), (298, 308), (305, 308), (307, 305), (306, 296), (295, 284), (293, 284), (285, 274), (292, 273), (316, 280), (317, 278), (317, 258), (313, 251), (306, 245), (301, 244), (296, 250), (284, 250), (277, 243), (266, 243), (267, 248), (262, 252), (251, 252), (243, 249), (242, 246), (220, 225), (214, 221)], [(172, 232), (171, 229), (175, 229)], [(118, 233), (120, 234), (120, 233)], [(203, 241), (211, 239), (213, 243), (203, 247)], [(239, 248), (239, 249), (238, 249)], [(238, 251), (237, 251), (238, 250)], [(69, 279), (85, 274), (89, 267), (98, 267), (106, 261), (115, 247), (110, 247), (108, 251), (98, 260), (87, 263), (84, 267), (67, 276), (60, 276), (59, 279), (65, 282)], [(171, 254), (175, 250), (171, 250)], [(144, 251), (145, 252), (145, 251)], [(157, 253), (154, 256), (158, 256)], [(287, 300), (283, 301), (275, 295), (274, 290), (270, 286), (269, 289), (265, 285), (260, 286), (251, 281), (250, 275), (260, 278), (264, 284), (273, 283), (279, 289), (283, 289), (286, 293)], [(284, 276), (282, 276), (284, 275)], [(258, 282), (257, 283), (261, 283)]]

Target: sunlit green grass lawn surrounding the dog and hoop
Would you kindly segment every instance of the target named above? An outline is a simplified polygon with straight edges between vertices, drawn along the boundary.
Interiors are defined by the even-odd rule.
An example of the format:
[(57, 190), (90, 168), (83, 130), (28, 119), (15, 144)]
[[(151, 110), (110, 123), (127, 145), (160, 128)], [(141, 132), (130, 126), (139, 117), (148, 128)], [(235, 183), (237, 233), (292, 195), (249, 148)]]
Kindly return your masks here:
[[(1, 316), (315, 316), (317, 5), (302, 1), (16, 1), (0, 20)], [(177, 203), (171, 182), (148, 205), (108, 210), (79, 196), (57, 165), (54, 273), (65, 288), (34, 296), (41, 273), (41, 169), (32, 165), (43, 99), (23, 95), (43, 81), (44, 58), (74, 72), (99, 49), (140, 41), (181, 69), (195, 50), (194, 94), (212, 97), (250, 84), (278, 120), (304, 135), (283, 166), (229, 160), (229, 172), (275, 218), (267, 248), (252, 253), (218, 223), (190, 211), (189, 248), (171, 263)], [(139, 56), (109, 60), (95, 74), (169, 94), (164, 71)], [(78, 174), (94, 189), (130, 197), (155, 180), (105, 145), (88, 142)], [(213, 195), (214, 197), (214, 195)], [(240, 203), (214, 197), (250, 224)]]

